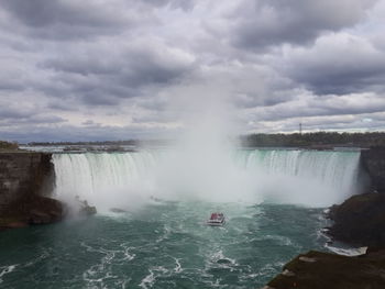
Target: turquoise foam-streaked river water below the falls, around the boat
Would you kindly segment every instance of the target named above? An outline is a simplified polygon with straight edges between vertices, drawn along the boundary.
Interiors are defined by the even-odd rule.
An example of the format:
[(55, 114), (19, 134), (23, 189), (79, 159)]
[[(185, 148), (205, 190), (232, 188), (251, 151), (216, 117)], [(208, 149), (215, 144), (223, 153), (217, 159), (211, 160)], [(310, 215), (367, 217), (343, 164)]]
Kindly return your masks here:
[[(223, 227), (205, 220), (222, 211)], [(324, 249), (321, 209), (158, 202), (2, 232), (0, 288), (260, 288)]]

